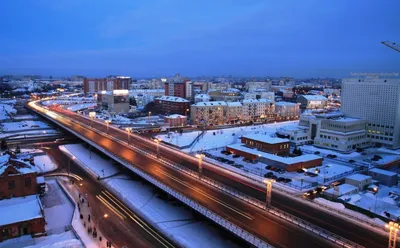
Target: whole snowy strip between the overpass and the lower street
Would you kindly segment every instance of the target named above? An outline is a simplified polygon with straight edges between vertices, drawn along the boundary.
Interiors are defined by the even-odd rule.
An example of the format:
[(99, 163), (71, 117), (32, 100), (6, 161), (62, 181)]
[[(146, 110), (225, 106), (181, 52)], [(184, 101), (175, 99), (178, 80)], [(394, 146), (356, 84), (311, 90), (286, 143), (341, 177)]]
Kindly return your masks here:
[[(91, 174), (93, 171), (98, 171), (98, 164), (102, 164), (101, 168), (107, 171), (115, 170), (112, 162), (103, 158), (98, 157), (103, 160), (102, 162), (88, 160), (88, 150), (83, 146), (75, 145), (75, 149), (72, 150), (62, 148), (62, 151), (67, 152), (69, 156), (75, 156), (81, 162), (84, 161), (84, 168), (90, 170)], [(231, 241), (218, 235), (219, 230), (208, 222), (195, 220), (192, 211), (158, 198), (150, 185), (132, 180), (124, 174), (102, 181), (113, 188), (112, 192), (128, 206), (140, 211), (145, 218), (164, 230), (169, 237), (183, 247), (237, 247)]]

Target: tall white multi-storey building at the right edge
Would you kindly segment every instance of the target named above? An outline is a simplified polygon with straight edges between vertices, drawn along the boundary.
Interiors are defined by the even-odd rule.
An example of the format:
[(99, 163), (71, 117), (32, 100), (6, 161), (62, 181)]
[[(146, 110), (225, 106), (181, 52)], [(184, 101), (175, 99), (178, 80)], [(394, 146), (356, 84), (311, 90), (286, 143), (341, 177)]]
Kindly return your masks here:
[(372, 142), (400, 148), (400, 78), (397, 73), (353, 74), (342, 80), (342, 112), (367, 121)]

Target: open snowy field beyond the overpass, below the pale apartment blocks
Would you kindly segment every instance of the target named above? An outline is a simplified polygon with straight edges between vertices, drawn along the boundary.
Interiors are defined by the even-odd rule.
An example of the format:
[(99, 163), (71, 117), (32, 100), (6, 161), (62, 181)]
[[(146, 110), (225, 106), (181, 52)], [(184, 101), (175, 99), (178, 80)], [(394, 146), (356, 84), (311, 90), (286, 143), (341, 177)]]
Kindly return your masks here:
[[(186, 152), (196, 152), (199, 150), (208, 150), (224, 147), (230, 144), (240, 143), (240, 137), (245, 134), (274, 134), (276, 130), (283, 126), (296, 126), (298, 121), (287, 121), (279, 123), (264, 124), (258, 126), (233, 127), (220, 130), (207, 130), (206, 134), (192, 147), (184, 149)], [(215, 133), (215, 135), (214, 135)], [(199, 131), (180, 134), (174, 134), (168, 138), (167, 134), (159, 135), (164, 142), (176, 146), (190, 144), (197, 136)]]

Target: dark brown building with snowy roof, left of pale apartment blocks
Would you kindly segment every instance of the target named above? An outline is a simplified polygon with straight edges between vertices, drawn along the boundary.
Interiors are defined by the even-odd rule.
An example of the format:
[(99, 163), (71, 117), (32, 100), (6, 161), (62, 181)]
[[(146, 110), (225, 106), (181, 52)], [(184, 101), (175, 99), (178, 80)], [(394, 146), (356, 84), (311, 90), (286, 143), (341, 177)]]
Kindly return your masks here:
[(165, 114), (188, 115), (190, 102), (181, 97), (162, 96), (155, 99), (155, 107), (158, 111)]

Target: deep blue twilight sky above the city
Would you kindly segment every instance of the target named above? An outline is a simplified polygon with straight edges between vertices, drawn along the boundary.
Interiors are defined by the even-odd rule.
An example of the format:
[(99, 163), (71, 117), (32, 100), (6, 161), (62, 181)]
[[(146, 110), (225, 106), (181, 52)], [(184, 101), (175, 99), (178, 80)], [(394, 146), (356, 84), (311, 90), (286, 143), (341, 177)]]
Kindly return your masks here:
[(0, 74), (400, 72), (400, 0), (4, 0)]

